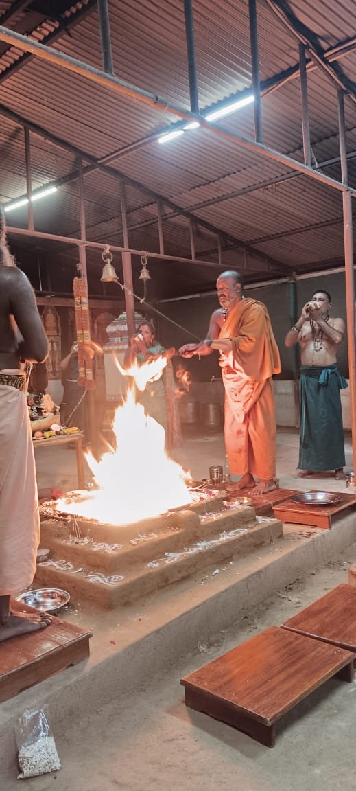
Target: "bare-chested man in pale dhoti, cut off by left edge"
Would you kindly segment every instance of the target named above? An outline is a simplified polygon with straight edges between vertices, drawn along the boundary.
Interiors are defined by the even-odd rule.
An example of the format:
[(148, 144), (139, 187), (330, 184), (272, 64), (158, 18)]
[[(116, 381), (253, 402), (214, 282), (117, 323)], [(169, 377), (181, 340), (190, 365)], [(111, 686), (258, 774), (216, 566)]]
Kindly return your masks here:
[(26, 275), (6, 244), (0, 211), (0, 642), (51, 623), (47, 614), (14, 615), (13, 593), (36, 571), (39, 509), (23, 362), (42, 362), (48, 343)]

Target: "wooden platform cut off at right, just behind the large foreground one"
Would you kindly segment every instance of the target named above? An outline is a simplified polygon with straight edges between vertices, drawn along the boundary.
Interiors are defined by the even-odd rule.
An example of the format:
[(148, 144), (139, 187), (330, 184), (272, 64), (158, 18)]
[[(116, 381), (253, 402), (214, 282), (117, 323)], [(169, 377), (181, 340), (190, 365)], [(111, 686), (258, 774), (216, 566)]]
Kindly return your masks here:
[(356, 588), (338, 585), (282, 627), (356, 653)]

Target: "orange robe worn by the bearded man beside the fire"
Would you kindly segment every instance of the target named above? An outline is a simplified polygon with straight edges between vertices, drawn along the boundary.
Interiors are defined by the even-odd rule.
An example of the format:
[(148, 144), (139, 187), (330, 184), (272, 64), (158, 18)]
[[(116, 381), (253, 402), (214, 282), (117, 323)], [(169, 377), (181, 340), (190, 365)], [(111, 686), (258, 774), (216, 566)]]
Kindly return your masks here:
[(231, 341), (219, 363), (225, 387), (225, 445), (233, 475), (275, 477), (275, 396), (279, 350), (267, 308), (245, 299), (234, 305), (220, 338)]

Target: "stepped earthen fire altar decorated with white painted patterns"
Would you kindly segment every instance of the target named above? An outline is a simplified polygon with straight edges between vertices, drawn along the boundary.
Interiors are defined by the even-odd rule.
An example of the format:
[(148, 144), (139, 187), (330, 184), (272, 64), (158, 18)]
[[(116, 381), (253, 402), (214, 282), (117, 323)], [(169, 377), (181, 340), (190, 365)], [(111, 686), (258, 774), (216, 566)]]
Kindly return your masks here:
[[(88, 493), (86, 493), (88, 495)], [(73, 512), (77, 498), (73, 493)], [(226, 492), (199, 490), (186, 508), (133, 524), (104, 524), (41, 506), (41, 546), (34, 588), (66, 589), (106, 609), (129, 604), (173, 582), (282, 536), (282, 523), (231, 505)]]

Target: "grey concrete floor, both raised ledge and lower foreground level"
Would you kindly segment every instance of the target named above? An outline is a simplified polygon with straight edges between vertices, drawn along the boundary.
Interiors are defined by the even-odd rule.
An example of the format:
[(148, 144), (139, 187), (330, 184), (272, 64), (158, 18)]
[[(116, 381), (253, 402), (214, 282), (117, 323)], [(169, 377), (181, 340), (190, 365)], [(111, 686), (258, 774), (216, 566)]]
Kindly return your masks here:
[[(346, 451), (350, 470), (350, 437)], [(75, 488), (74, 451), (39, 448), (36, 457), (40, 490)], [(345, 482), (330, 475), (296, 481), (297, 430), (279, 431), (277, 457), (280, 486), (345, 491)], [(177, 458), (195, 479), (208, 477), (210, 464), (223, 463), (223, 439), (185, 437)], [(182, 676), (347, 582), (347, 568), (356, 562), (353, 516), (343, 551), (338, 529), (312, 529), (304, 536), (301, 530), (288, 538), (297, 548), (294, 555), (299, 552), (298, 566), (284, 572), (283, 558), (291, 562), (288, 540), (284, 549), (267, 547), (266, 558), (268, 553), (269, 560), (271, 553), (275, 558), (267, 584), (260, 575), (264, 554), (259, 551), (245, 561), (245, 589), (235, 588), (235, 598), (229, 574), (236, 581), (242, 561), (241, 568), (237, 563), (222, 570), (224, 576), (183, 581), (179, 589), (167, 589), (125, 613), (83, 607), (79, 618), (73, 611), (70, 619), (94, 631), (88, 667), (69, 668), (0, 706), (0, 789), (18, 787), (16, 717), (49, 701), (62, 770), (28, 780), (33, 791), (180, 791), (182, 786), (187, 791), (334, 791), (336, 785), (356, 791), (356, 681), (332, 679), (297, 706), (281, 721), (273, 749), (186, 709), (183, 702)], [(245, 596), (244, 607), (237, 596)], [(253, 601), (259, 604), (251, 606)]]

